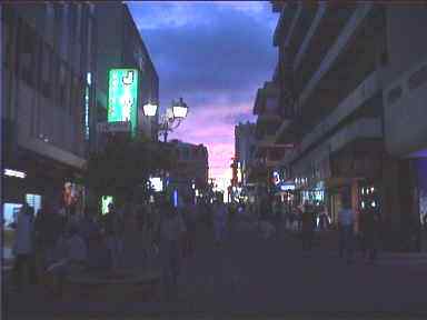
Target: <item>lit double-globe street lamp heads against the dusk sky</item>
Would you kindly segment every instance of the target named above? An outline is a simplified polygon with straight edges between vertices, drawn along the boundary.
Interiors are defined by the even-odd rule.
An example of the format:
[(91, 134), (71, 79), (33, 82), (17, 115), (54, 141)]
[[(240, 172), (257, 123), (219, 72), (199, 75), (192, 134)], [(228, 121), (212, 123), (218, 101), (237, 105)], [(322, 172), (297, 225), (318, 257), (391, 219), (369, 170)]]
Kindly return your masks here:
[[(147, 117), (155, 117), (159, 106), (153, 102), (148, 102), (143, 106), (143, 113)], [(158, 133), (163, 136), (163, 142), (168, 141), (168, 133), (172, 132), (175, 129), (181, 124), (182, 120), (187, 117), (188, 106), (183, 102), (182, 98), (179, 98), (178, 101), (172, 101), (171, 107), (166, 109), (166, 112), (159, 117), (158, 122)]]

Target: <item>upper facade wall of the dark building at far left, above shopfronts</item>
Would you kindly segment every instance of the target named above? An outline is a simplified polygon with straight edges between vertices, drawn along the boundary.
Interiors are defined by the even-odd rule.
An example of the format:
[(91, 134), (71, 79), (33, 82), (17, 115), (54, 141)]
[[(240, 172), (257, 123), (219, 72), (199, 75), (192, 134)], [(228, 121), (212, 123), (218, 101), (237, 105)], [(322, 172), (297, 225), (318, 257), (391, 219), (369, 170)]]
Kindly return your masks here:
[[(38, 3), (28, 8), (10, 4), (7, 8), (9, 10), (7, 14), (11, 18), (8, 29), (13, 30), (11, 34), (14, 38), (11, 47), (13, 51), (9, 54), (12, 58), (9, 59), (17, 62), (9, 64), (11, 73), (4, 72), (8, 74), (6, 86), (10, 94), (7, 101), (9, 109), (7, 117), (16, 120), (22, 148), (60, 162), (66, 157), (68, 164), (80, 167), (80, 160), (85, 157), (82, 84), (86, 81), (87, 67), (81, 63), (87, 52), (82, 50), (80, 34), (67, 46), (57, 42), (51, 47), (49, 28), (53, 17), (49, 13), (48, 4)], [(57, 11), (64, 13), (66, 7), (57, 7)], [(77, 14), (79, 11), (76, 9), (72, 12)], [(70, 32), (70, 27), (68, 24), (64, 27), (58, 39)], [(86, 32), (85, 29), (82, 31)], [(59, 56), (67, 60), (61, 61)], [(60, 68), (64, 70), (63, 97), (59, 94)], [(26, 78), (31, 81), (26, 81)], [(71, 87), (71, 83), (75, 86)], [(44, 88), (49, 88), (48, 94)], [(40, 141), (44, 144), (39, 143)], [(31, 148), (34, 143), (38, 148)], [(61, 157), (57, 157), (59, 153)], [(76, 159), (76, 156), (80, 159)]]

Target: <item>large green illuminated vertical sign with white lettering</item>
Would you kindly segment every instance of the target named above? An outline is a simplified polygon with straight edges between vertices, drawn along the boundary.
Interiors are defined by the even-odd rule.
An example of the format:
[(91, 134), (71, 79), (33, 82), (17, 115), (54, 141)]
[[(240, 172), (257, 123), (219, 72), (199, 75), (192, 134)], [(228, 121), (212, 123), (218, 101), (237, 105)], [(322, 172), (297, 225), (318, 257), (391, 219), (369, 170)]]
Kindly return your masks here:
[(130, 121), (138, 129), (138, 70), (111, 69), (108, 74), (108, 122)]

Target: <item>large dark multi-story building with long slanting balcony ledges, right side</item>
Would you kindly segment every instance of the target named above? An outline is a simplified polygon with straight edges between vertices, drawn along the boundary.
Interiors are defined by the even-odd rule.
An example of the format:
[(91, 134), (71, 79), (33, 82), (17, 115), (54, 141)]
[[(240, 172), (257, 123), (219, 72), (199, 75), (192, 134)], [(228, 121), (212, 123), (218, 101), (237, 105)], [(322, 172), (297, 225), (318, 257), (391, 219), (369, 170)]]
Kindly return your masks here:
[(426, 197), (427, 47), (414, 37), (427, 27), (426, 4), (272, 7), (282, 119), (274, 136), (294, 144), (281, 164), (300, 201), (327, 202), (336, 220), (350, 191), (357, 212), (377, 211), (389, 238), (408, 243)]

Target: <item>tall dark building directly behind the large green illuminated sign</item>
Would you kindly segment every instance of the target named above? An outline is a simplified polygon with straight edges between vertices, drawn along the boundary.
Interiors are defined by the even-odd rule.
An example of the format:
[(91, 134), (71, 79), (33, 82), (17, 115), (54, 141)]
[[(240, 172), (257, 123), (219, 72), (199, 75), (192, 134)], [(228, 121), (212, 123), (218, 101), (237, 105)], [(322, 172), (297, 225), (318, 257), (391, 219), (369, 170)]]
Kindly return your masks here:
[[(156, 117), (146, 117), (143, 106), (159, 101), (159, 78), (127, 4), (120, 1), (97, 2), (97, 118), (108, 119), (109, 70), (137, 69), (139, 76), (137, 128), (157, 141)], [(115, 21), (115, 23), (111, 23)]]

